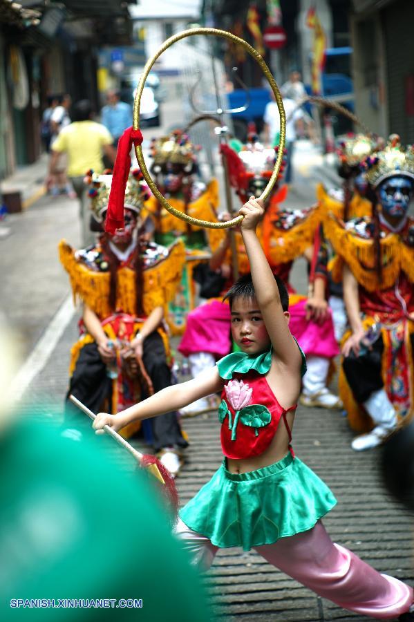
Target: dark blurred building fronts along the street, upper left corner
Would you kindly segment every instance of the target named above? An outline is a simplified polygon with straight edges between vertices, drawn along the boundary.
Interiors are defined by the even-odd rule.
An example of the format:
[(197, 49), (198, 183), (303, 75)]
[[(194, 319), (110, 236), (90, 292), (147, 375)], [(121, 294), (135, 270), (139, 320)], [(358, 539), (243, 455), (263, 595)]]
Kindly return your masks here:
[(0, 180), (39, 158), (48, 95), (97, 109), (98, 46), (131, 43), (131, 2), (0, 0)]

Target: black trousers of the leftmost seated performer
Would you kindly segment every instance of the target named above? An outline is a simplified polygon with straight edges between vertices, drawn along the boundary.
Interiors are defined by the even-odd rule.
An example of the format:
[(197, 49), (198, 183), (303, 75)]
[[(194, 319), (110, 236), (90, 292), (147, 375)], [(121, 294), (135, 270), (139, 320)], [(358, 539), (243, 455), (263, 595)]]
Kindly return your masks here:
[[(167, 365), (164, 343), (157, 331), (149, 334), (144, 340), (142, 361), (153, 383), (154, 392), (171, 385), (171, 370)], [(79, 353), (73, 376), (70, 378), (69, 390), (66, 395), (65, 420), (71, 427), (89, 426), (86, 415), (68, 401), (69, 395), (75, 395), (93, 413), (102, 409), (105, 399), (111, 399), (112, 381), (106, 375), (106, 365), (100, 357), (96, 343), (87, 343)], [(188, 443), (182, 436), (176, 411), (152, 417), (153, 448), (187, 447)]]

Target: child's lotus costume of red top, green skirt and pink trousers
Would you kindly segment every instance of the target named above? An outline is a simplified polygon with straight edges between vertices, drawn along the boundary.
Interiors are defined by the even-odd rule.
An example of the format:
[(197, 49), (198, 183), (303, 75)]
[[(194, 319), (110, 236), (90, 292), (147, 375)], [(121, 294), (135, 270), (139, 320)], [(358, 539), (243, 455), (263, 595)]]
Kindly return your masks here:
[[(228, 380), (218, 418), (223, 453), (229, 458), (260, 455), (281, 421), (290, 434), (287, 411), (266, 381), (271, 361), (271, 351), (258, 357), (234, 352), (218, 361), (220, 376)], [(254, 548), (272, 565), (348, 610), (376, 619), (408, 612), (411, 587), (332, 543), (320, 518), (335, 503), (330, 489), (291, 448), (279, 462), (248, 473), (230, 473), (225, 458), (181, 509), (176, 534), (204, 569), (218, 548)]]

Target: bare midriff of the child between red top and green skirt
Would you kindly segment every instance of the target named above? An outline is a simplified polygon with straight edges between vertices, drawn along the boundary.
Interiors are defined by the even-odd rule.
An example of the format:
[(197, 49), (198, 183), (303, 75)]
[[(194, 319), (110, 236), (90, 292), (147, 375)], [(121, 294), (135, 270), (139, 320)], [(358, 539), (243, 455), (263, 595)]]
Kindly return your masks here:
[[(292, 430), (294, 413), (288, 413), (286, 415), (286, 420)], [(269, 466), (270, 464), (274, 464), (274, 462), (282, 460), (288, 452), (289, 435), (283, 423), (283, 418), (281, 417), (272, 442), (263, 453), (255, 455), (254, 458), (243, 458), (243, 460), (227, 458), (227, 469), (230, 473), (248, 473), (249, 471), (256, 471), (256, 469), (263, 469), (263, 466)]]

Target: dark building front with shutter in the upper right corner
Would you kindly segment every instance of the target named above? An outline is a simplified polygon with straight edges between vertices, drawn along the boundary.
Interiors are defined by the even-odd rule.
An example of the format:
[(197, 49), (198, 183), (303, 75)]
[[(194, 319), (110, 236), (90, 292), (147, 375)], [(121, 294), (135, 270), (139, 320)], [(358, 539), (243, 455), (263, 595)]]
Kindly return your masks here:
[(414, 142), (414, 3), (353, 0), (356, 111), (371, 131)]

